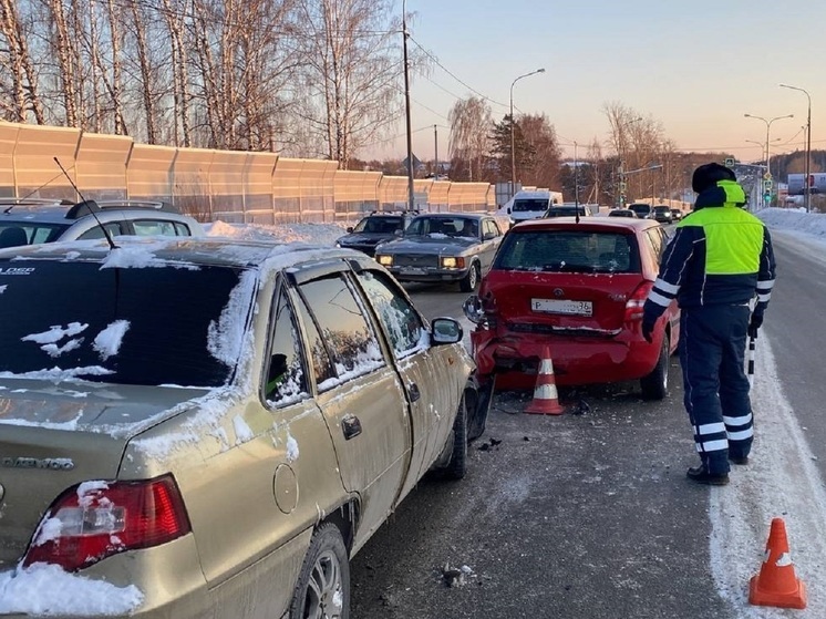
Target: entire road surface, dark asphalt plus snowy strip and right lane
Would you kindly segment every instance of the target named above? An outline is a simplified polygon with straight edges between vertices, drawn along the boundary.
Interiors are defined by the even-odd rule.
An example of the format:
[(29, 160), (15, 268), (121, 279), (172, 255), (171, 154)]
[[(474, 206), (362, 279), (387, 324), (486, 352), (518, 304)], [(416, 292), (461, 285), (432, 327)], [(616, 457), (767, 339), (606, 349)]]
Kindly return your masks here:
[[(669, 396), (560, 389), (560, 416), (503, 392), (468, 475), (425, 479), (354, 558), (358, 619), (826, 617), (826, 245), (774, 233), (778, 277), (757, 340), (755, 450), (724, 488), (696, 486), (679, 362)], [(427, 317), (454, 287), (410, 286)], [(468, 324), (469, 327), (469, 324)], [(785, 519), (808, 608), (748, 603), (772, 518)], [(454, 586), (445, 568), (465, 571)], [(450, 571), (448, 571), (450, 574)]]

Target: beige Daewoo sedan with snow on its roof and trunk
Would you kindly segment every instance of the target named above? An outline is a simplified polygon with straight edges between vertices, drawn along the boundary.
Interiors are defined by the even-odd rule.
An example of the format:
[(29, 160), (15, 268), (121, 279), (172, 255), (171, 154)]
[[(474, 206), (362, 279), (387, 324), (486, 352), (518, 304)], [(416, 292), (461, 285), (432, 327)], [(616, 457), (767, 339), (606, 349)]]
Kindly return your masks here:
[(14, 248), (0, 301), (3, 617), (345, 618), (350, 557), (484, 430), (460, 324), (353, 250)]

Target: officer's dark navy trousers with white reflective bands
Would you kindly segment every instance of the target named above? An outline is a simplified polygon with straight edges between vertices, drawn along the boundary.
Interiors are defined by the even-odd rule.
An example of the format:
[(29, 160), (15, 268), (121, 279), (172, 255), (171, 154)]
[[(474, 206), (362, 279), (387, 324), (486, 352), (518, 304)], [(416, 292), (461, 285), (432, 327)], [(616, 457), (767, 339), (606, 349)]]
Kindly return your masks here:
[(694, 444), (712, 474), (748, 455), (754, 440), (744, 371), (748, 306), (683, 308), (680, 318), (684, 403)]

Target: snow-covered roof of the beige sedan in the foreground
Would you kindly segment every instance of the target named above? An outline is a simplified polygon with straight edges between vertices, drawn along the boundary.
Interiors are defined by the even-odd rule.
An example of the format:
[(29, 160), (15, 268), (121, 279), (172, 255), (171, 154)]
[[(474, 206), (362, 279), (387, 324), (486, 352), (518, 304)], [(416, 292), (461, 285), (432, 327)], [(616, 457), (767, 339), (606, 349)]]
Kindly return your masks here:
[[(319, 258), (347, 258), (363, 261), (361, 251), (307, 243), (273, 243), (230, 237), (123, 237), (116, 249), (103, 239), (58, 241), (0, 249), (0, 259), (20, 257), (34, 260), (100, 261), (112, 259), (112, 266), (130, 266), (128, 255), (146, 264), (147, 251), (154, 260), (175, 265), (249, 268), (277, 259), (279, 268), (289, 268)], [(114, 251), (120, 251), (114, 256)], [(126, 256), (125, 258), (123, 256)], [(143, 256), (143, 258), (141, 258)]]

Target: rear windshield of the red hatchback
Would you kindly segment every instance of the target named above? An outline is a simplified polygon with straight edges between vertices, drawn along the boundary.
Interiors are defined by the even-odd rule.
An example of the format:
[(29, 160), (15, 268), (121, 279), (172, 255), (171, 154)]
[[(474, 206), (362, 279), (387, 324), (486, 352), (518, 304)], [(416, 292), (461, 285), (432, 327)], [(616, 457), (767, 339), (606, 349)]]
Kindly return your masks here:
[(633, 235), (601, 231), (512, 231), (494, 269), (514, 271), (641, 272)]

